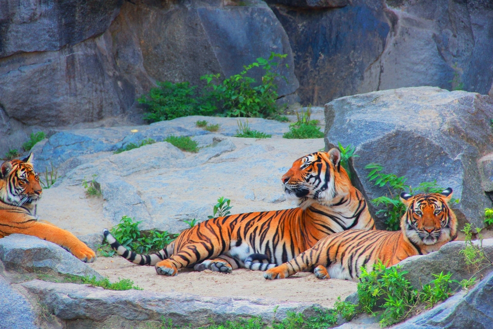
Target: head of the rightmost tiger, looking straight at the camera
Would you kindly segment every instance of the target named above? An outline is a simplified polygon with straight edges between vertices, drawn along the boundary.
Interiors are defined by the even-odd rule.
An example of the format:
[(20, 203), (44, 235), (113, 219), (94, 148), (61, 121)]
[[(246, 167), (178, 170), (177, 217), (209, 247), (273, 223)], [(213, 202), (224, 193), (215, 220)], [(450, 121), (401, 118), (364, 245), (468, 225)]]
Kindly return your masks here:
[(451, 197), (451, 188), (442, 193), (401, 194), (407, 208), (401, 220), (401, 229), (411, 242), (431, 246), (455, 239), (457, 217), (448, 206)]

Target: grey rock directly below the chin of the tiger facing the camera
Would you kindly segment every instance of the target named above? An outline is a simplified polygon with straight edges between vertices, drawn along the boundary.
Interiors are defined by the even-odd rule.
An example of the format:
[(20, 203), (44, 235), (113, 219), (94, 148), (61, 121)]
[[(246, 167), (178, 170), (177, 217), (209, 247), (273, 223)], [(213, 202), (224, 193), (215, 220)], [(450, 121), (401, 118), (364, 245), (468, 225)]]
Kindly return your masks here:
[[(476, 245), (479, 244), (478, 241), (475, 241), (475, 243)], [(449, 242), (442, 246), (438, 251), (427, 255), (409, 257), (398, 265), (402, 267), (403, 271), (408, 272), (406, 279), (408, 279), (411, 285), (416, 289), (421, 289), (422, 284), (425, 285), (435, 279), (433, 274), (440, 274), (442, 271), (444, 274), (451, 272), (451, 279), (459, 282), (464, 279), (468, 280), (473, 275), (475, 275), (477, 279), (480, 279), (493, 271), (493, 267), (488, 267), (483, 271), (476, 273), (479, 268), (486, 266), (486, 264), (479, 266), (479, 268), (467, 266), (465, 264), (464, 255), (460, 253), (465, 247), (466, 245), (462, 241)], [(493, 239), (483, 240), (483, 251), (486, 254), (486, 257), (493, 259)], [(459, 287), (459, 284), (452, 283), (450, 287), (455, 290)]]

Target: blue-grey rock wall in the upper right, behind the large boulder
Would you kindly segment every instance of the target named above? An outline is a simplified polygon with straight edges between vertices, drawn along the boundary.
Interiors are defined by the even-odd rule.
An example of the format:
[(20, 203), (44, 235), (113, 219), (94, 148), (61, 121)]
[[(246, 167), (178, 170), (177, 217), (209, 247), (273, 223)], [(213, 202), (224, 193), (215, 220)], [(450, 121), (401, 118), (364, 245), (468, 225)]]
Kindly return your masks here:
[(493, 90), (490, 2), (268, 3), (288, 33), (304, 104), (412, 86)]

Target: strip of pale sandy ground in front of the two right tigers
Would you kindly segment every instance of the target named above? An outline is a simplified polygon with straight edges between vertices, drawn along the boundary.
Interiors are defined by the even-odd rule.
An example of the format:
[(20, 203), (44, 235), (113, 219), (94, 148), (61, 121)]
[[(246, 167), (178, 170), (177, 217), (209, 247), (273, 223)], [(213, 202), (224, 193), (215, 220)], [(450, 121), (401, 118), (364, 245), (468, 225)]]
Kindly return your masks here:
[(156, 274), (154, 266), (139, 266), (121, 257), (100, 257), (90, 266), (111, 282), (130, 279), (144, 290), (175, 291), (199, 296), (263, 297), (279, 301), (318, 303), (333, 307), (337, 296), (343, 300), (356, 291), (356, 283), (346, 280), (319, 280), (313, 273), (298, 273), (288, 279), (266, 280), (262, 271), (237, 269), (223, 274), (209, 270), (178, 272), (176, 277)]

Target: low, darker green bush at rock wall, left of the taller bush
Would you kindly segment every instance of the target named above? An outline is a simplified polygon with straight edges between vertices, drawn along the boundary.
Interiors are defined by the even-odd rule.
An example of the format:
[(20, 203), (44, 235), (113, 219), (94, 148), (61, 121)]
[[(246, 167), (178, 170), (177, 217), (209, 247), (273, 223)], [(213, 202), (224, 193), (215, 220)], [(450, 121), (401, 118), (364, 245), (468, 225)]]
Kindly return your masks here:
[(157, 122), (188, 115), (213, 115), (216, 106), (210, 99), (198, 95), (196, 88), (188, 82), (158, 82), (158, 87), (138, 99), (140, 104), (147, 105), (144, 119)]

